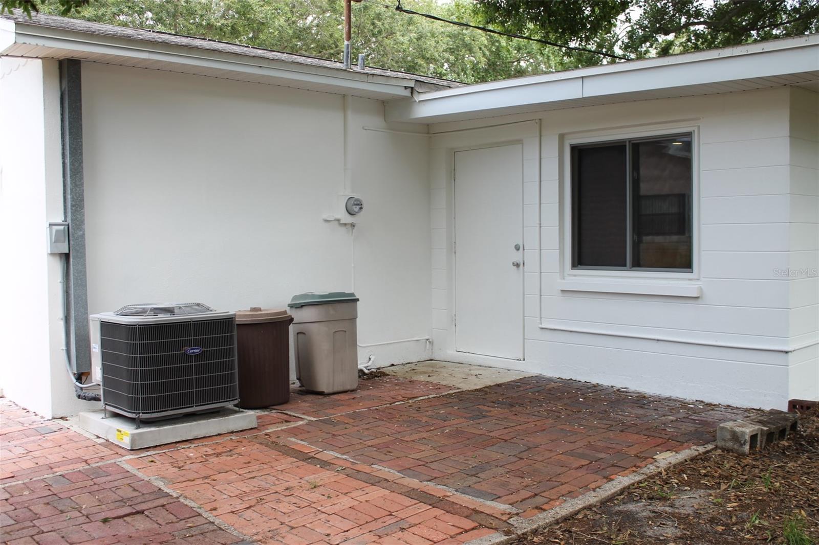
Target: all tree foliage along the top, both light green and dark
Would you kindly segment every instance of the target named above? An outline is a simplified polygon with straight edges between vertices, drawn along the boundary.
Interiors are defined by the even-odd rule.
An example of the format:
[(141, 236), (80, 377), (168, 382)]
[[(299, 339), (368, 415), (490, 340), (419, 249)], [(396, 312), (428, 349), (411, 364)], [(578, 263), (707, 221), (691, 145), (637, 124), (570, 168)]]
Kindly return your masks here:
[[(353, 4), (352, 51), (367, 64), (466, 83), (611, 62)], [(406, 8), (627, 57), (819, 32), (819, 0), (404, 0)], [(0, 0), (43, 11), (340, 60), (342, 0)]]

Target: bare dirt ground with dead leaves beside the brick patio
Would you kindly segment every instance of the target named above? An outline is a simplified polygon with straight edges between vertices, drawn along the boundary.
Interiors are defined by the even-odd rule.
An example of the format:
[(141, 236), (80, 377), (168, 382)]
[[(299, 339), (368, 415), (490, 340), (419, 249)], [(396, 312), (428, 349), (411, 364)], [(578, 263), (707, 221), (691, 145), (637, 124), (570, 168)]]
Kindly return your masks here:
[(819, 543), (819, 410), (750, 456), (715, 449), (518, 541), (560, 545)]

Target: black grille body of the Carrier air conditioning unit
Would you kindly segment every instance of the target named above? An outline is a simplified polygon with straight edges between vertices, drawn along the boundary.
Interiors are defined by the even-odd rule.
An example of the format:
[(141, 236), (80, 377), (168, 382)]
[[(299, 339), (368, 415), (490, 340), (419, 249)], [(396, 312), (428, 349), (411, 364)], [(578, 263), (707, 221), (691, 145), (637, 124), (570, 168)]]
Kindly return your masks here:
[(233, 317), (100, 323), (106, 408), (130, 417), (196, 412), (238, 402)]

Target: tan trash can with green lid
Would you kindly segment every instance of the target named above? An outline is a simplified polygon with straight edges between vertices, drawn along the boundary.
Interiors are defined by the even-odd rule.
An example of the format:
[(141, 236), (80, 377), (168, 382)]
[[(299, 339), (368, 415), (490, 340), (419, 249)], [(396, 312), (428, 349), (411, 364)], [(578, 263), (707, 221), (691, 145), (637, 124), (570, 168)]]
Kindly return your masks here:
[(296, 378), (305, 390), (337, 394), (358, 388), (358, 297), (343, 291), (303, 293), (287, 306)]

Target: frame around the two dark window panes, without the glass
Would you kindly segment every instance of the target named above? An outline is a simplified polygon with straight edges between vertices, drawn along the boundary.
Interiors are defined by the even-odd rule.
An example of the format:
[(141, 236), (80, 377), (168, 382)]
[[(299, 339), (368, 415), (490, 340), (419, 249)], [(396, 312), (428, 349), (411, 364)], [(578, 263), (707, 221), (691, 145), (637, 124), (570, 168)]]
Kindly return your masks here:
[[(631, 187), (631, 143), (649, 142), (653, 140), (671, 137), (691, 138), (691, 267), (690, 268), (647, 268), (630, 267), (633, 241), (633, 196)], [(572, 199), (575, 187), (574, 154), (572, 149), (577, 146), (605, 146), (613, 143), (622, 143), (627, 147), (627, 266), (626, 267), (603, 267), (591, 265), (574, 266), (574, 259), (577, 255), (577, 241), (575, 240), (576, 203)], [(561, 216), (563, 218), (561, 238), (563, 240), (563, 278), (578, 277), (626, 277), (637, 278), (663, 278), (663, 279), (685, 279), (691, 280), (699, 278), (699, 127), (688, 125), (664, 125), (652, 129), (640, 131), (607, 130), (595, 133), (585, 133), (576, 135), (563, 135), (563, 172), (561, 177), (563, 203), (561, 205)]]

